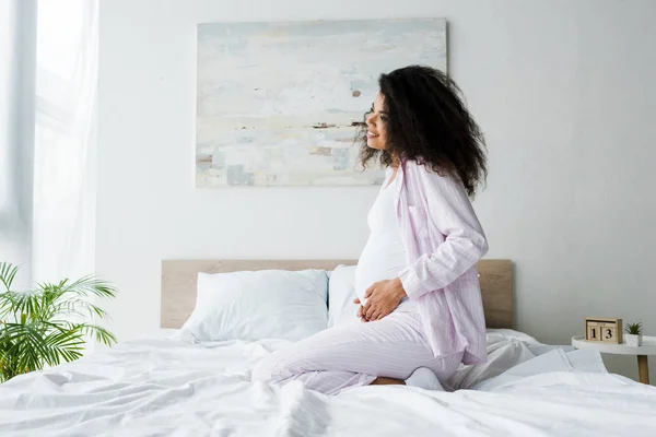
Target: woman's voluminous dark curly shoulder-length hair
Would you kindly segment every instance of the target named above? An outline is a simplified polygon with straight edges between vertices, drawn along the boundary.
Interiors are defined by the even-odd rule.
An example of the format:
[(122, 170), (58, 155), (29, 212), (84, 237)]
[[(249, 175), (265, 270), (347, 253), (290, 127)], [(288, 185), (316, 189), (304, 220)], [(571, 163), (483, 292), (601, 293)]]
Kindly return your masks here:
[[(390, 166), (394, 156), (414, 160), (459, 178), (470, 197), (488, 176), (485, 140), (467, 110), (458, 85), (442, 71), (409, 66), (378, 79), (387, 113), (385, 151), (366, 144), (366, 123), (358, 131), (363, 167)], [(365, 115), (365, 119), (368, 113)]]

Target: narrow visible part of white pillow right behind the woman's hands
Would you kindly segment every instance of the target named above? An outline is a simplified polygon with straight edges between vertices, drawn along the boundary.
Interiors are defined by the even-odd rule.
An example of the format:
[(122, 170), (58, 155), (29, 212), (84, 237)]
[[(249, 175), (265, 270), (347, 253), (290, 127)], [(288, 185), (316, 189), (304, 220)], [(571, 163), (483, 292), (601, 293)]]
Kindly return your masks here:
[(355, 265), (338, 265), (330, 273), (328, 285), (328, 327), (360, 321), (356, 317)]

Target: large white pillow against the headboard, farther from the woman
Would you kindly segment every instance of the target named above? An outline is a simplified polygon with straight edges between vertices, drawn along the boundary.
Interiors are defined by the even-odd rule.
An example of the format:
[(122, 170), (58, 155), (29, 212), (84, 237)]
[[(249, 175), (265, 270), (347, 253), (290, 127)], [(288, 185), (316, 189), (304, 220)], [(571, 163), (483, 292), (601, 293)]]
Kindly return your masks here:
[(181, 332), (198, 341), (297, 341), (326, 329), (327, 293), (325, 270), (199, 273)]

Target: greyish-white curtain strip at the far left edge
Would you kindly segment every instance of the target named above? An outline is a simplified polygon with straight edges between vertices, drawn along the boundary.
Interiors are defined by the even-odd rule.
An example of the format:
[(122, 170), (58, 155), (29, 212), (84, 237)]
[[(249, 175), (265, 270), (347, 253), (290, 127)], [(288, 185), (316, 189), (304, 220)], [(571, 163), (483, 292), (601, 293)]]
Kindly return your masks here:
[(0, 261), (32, 277), (36, 0), (0, 0)]

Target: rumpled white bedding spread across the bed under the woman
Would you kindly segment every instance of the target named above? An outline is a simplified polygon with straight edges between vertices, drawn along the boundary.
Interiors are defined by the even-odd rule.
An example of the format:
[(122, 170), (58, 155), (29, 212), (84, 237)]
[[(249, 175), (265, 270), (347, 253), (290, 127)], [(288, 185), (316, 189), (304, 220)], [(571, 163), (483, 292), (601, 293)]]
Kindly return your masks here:
[(250, 382), (282, 345), (140, 340), (24, 375), (0, 386), (0, 436), (656, 436), (656, 388), (606, 373), (589, 351), (536, 357), (501, 335), (496, 359), (452, 381), (473, 389), (326, 397)]

